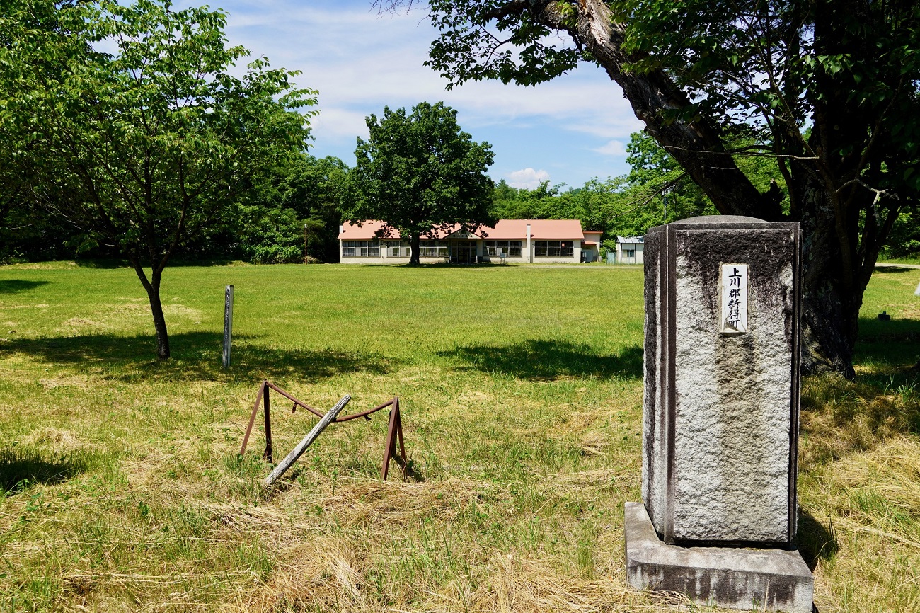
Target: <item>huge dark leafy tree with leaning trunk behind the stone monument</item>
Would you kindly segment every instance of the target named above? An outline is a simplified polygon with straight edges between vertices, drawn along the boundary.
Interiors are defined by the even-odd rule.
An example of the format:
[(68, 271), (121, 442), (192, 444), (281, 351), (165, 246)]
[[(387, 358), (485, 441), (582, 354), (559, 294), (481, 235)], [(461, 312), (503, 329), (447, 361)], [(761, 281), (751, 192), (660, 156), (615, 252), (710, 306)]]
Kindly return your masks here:
[[(441, 35), (428, 64), (450, 79), (448, 87), (471, 79), (535, 85), (582, 61), (595, 64), (622, 87), (646, 133), (720, 213), (799, 221), (803, 365), (854, 375), (863, 292), (900, 210), (916, 202), (920, 188), (920, 5), (432, 0), (430, 6)], [(745, 141), (750, 145), (734, 146)], [(771, 157), (782, 180), (758, 189), (740, 156)]]

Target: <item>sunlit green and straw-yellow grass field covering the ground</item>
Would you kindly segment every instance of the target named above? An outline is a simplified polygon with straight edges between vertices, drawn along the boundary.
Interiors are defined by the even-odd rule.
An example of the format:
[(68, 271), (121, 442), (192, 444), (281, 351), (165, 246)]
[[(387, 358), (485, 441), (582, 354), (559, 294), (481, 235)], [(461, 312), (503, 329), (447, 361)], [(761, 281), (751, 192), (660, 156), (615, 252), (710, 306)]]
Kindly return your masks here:
[[(822, 611), (920, 611), (920, 270), (866, 295), (858, 378), (803, 392), (800, 547)], [(224, 284), (233, 365), (220, 368)], [(177, 267), (155, 361), (133, 272), (0, 267), (0, 611), (653, 611), (635, 267)], [(875, 315), (885, 310), (892, 320)], [(346, 412), (277, 486), (259, 382)], [(315, 423), (274, 403), (276, 457)]]

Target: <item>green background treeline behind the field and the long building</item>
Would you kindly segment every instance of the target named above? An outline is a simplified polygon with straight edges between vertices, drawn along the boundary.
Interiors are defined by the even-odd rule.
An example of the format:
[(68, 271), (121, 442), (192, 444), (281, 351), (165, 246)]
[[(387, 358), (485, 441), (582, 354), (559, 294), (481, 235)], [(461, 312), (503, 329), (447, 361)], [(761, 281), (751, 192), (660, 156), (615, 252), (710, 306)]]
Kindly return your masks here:
[[(627, 175), (591, 179), (581, 187), (513, 188), (501, 180), (494, 188), (492, 212), (501, 219), (581, 219), (584, 229), (603, 230), (604, 247), (615, 237), (641, 235), (651, 226), (704, 214), (718, 214), (712, 203), (657, 143), (642, 133), (627, 145)], [(761, 191), (782, 185), (776, 163), (766, 157), (742, 158)], [(336, 157), (303, 156), (273, 168), (224, 207), (201, 236), (182, 246), (185, 260), (246, 260), (255, 263), (339, 260), (341, 211), (353, 197), (348, 168)], [(3, 186), (0, 186), (0, 190)], [(351, 195), (350, 195), (351, 194)], [(788, 209), (788, 202), (784, 202)], [(79, 227), (31, 207), (19, 193), (0, 193), (6, 220), (0, 226), (0, 261), (119, 258), (118, 250), (98, 244)], [(901, 214), (887, 255), (920, 254), (920, 215)]]

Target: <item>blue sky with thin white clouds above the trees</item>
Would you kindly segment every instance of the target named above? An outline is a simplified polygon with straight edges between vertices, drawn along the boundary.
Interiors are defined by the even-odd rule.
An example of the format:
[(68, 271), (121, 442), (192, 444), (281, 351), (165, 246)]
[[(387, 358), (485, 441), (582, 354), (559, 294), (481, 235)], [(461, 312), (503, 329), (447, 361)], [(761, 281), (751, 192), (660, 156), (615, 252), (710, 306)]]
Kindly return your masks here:
[[(193, 0), (176, 5), (203, 4)], [(625, 145), (641, 129), (622, 91), (590, 64), (537, 87), (446, 80), (422, 63), (436, 30), (416, 9), (379, 16), (370, 0), (209, 0), (229, 13), (226, 33), (271, 65), (302, 71), (300, 87), (319, 91), (311, 153), (354, 164), (364, 118), (384, 106), (422, 100), (457, 110), (460, 126), (495, 152), (492, 179), (535, 187), (540, 179), (580, 187), (627, 172)]]

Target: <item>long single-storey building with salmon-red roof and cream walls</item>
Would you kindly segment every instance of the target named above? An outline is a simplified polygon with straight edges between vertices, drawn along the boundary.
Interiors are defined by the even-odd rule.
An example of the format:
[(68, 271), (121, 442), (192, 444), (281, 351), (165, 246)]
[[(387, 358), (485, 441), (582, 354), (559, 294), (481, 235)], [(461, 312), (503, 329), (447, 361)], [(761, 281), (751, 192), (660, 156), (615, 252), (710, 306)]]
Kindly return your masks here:
[[(408, 262), (408, 238), (396, 230), (377, 237), (384, 226), (366, 221), (339, 226), (339, 261), (344, 264)], [(495, 227), (465, 232), (459, 225), (420, 238), (422, 262), (578, 263), (600, 258), (601, 231), (583, 231), (578, 219), (500, 219)]]

